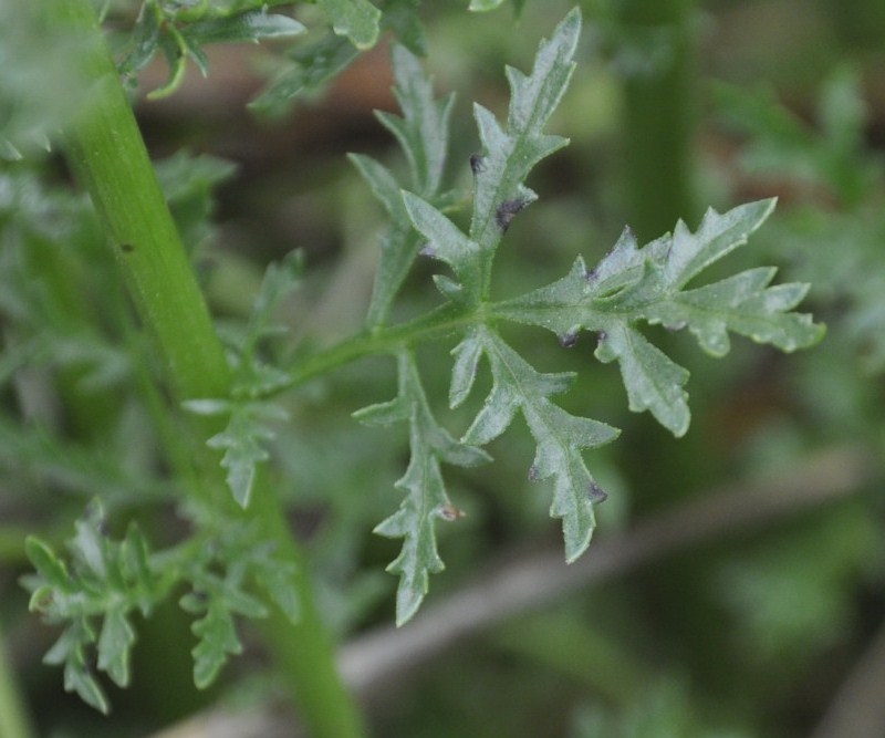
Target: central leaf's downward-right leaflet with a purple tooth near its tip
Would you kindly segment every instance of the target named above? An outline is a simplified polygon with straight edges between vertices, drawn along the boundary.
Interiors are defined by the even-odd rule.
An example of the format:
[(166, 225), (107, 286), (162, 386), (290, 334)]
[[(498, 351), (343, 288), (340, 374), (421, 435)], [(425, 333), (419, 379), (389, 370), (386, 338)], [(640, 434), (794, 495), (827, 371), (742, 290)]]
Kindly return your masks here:
[(586, 468), (581, 451), (596, 448), (617, 437), (604, 423), (570, 415), (549, 397), (564, 392), (572, 374), (537, 372), (500, 336), (486, 328), (472, 331), (456, 350), (472, 364), (479, 352), (489, 362), (492, 389), (461, 443), (483, 445), (500, 436), (519, 412), (537, 444), (529, 478), (553, 478), (550, 514), (562, 519), (565, 559), (580, 557), (595, 528), (593, 505), (605, 499)]

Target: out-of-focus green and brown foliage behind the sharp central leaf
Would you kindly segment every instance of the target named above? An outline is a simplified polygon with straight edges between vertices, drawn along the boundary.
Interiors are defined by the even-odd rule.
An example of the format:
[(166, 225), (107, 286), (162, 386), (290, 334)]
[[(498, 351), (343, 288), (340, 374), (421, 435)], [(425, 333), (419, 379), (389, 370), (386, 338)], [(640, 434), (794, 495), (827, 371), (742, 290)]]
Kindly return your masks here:
[[(114, 6), (111, 18), (123, 28), (131, 4)], [(450, 181), (467, 194), (478, 146), (471, 101), (500, 113), (503, 65), (525, 69), (539, 35), (571, 2), (528, 0), (519, 18), (509, 3), (488, 14), (461, 4), (425, 2), (420, 14), (438, 90), (458, 94)], [(783, 280), (811, 282), (803, 309), (829, 326), (811, 351), (783, 356), (736, 340), (726, 361), (700, 355), (683, 336), (660, 336), (691, 371), (694, 422), (679, 440), (627, 412), (616, 370), (594, 362), (590, 342), (566, 353), (546, 334), (516, 333), (540, 370), (579, 372), (570, 410), (624, 429), (589, 457), (611, 492), (597, 538), (725, 482), (749, 493), (756, 480), (789, 476), (833, 448), (870, 462), (860, 475), (844, 469), (857, 479), (847, 499), (645, 562), (456, 645), (373, 705), (376, 735), (885, 735), (882, 723), (877, 732), (847, 732), (827, 721), (851, 698), (845, 685), (856, 665), (876, 657), (872, 644), (885, 627), (885, 6), (584, 0), (582, 8), (580, 65), (550, 126), (571, 145), (533, 175), (541, 200), (508, 232), (496, 294), (552, 281), (576, 253), (595, 262), (625, 224), (647, 240), (680, 217), (694, 227), (707, 206), (775, 195), (774, 217), (729, 269), (736, 260), (774, 263)], [(303, 10), (308, 25), (312, 12)], [(9, 37), (0, 62), (28, 52), (10, 49)], [(281, 313), (294, 345), (269, 352), (309, 351), (362, 326), (385, 221), (344, 155), (403, 164), (372, 115), (394, 110), (386, 45), (385, 37), (334, 81), (263, 113), (246, 104), (279, 72), (273, 45), (207, 49), (208, 77), (190, 69), (159, 101), (144, 93), (164, 83), (164, 65), (139, 77), (136, 111), (219, 326), (241, 323), (268, 262), (304, 251), (305, 280)], [(173, 606), (143, 625), (134, 687), (113, 694), (108, 720), (62, 694), (56, 669), (40, 663), (54, 634), (28, 615), (17, 583), (28, 569), (23, 534), (64, 540), (97, 495), (121, 527), (139, 511), (148, 536), (175, 540), (174, 481), (157, 440), (175, 433), (175, 420), (158, 409), (150, 360), (88, 205), (61, 160), (27, 148), (40, 150), (34, 122), (45, 117), (8, 102), (21, 93), (8, 79), (0, 76), (7, 129), (34, 136), (24, 159), (0, 168), (0, 630), (38, 734), (146, 736), (200, 706), (263, 704), (274, 687), (254, 675), (260, 653), (233, 663), (209, 693), (192, 688), (192, 637)], [(435, 301), (429, 273), (417, 267), (399, 316)], [(428, 346), (421, 360), (428, 392), (457, 433), (466, 412), (445, 415), (441, 399), (449, 349)], [(407, 448), (397, 434), (350, 417), (393, 388), (393, 364), (366, 360), (290, 397), (291, 422), (278, 428), (280, 489), (345, 641), (393, 621), (396, 580), (383, 570), (396, 544), (371, 530), (399, 502), (393, 484)], [(528, 434), (490, 451), (493, 466), (450, 472), (466, 517), (441, 534), (447, 571), (435, 578), (430, 603), (490, 561), (560, 545), (546, 499), (525, 479)], [(862, 725), (864, 711), (882, 706), (855, 700), (854, 709)]]

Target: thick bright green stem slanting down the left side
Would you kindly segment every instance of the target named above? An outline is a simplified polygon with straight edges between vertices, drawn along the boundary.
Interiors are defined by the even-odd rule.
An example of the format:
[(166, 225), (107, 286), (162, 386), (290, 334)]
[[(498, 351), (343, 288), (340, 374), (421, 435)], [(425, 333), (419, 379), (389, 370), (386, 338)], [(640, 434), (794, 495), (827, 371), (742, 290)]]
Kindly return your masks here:
[[(225, 353), (196, 283), (166, 200), (157, 184), (125, 90), (119, 82), (90, 0), (56, 6), (60, 22), (87, 34), (88, 53), (77, 60), (88, 81), (80, 115), (66, 131), (66, 149), (77, 178), (101, 217), (142, 322), (154, 337), (173, 397), (227, 397), (231, 376)], [(199, 426), (198, 448), (205, 448)], [(204, 450), (208, 454), (208, 450)], [(215, 462), (212, 462), (215, 461)], [(217, 458), (197, 460), (206, 477), (195, 493), (225, 500)], [(222, 490), (219, 492), (218, 490)], [(230, 512), (230, 509), (227, 510)], [(263, 480), (257, 485), (249, 516), (260, 521), (267, 540), (299, 567), (301, 617), (292, 625), (272, 609), (266, 622), (268, 648), (278, 657), (312, 736), (364, 735), (358, 711), (334, 665), (333, 644), (312, 596), (306, 564), (285, 523), (280, 505)]]

